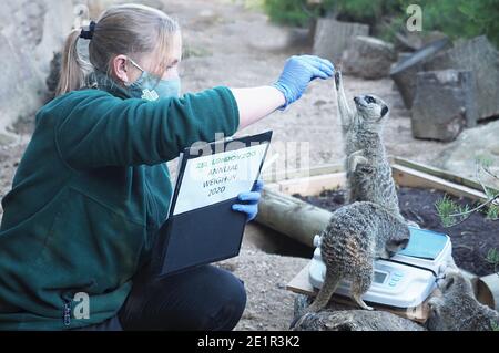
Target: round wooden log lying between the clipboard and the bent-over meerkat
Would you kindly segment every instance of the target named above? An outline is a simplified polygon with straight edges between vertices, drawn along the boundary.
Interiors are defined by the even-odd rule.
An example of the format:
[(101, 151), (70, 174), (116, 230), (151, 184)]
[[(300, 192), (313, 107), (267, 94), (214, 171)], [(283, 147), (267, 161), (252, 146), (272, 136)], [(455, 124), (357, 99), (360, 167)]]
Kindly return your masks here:
[(312, 247), (314, 236), (327, 226), (330, 216), (328, 210), (265, 187), (256, 221)]

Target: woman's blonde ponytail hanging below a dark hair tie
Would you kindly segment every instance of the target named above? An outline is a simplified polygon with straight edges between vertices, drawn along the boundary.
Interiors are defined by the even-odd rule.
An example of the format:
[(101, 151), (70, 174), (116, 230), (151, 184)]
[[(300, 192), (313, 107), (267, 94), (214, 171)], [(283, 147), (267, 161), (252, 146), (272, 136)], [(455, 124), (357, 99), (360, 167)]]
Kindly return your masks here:
[(86, 75), (92, 70), (92, 65), (80, 58), (78, 52), (80, 34), (81, 30), (73, 30), (65, 40), (55, 96), (82, 89), (86, 83)]

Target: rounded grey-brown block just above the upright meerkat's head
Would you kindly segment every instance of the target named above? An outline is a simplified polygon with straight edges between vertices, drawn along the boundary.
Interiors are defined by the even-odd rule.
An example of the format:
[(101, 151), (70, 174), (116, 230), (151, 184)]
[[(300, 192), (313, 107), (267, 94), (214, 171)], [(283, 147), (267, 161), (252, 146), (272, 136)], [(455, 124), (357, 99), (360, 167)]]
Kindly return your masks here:
[(357, 35), (343, 52), (342, 71), (367, 80), (381, 79), (388, 76), (395, 59), (393, 44)]

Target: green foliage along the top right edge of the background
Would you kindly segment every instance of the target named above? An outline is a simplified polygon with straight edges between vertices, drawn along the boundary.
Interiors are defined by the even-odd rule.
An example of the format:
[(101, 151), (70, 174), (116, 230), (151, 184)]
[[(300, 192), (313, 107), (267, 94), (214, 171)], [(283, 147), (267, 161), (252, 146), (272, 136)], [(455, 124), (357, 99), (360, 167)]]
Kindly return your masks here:
[[(306, 27), (310, 19), (333, 13), (339, 20), (367, 23), (375, 35), (404, 31), (411, 0), (265, 0), (264, 9), (281, 24)], [(499, 0), (419, 0), (425, 32), (438, 30), (452, 39), (486, 34), (499, 48)]]

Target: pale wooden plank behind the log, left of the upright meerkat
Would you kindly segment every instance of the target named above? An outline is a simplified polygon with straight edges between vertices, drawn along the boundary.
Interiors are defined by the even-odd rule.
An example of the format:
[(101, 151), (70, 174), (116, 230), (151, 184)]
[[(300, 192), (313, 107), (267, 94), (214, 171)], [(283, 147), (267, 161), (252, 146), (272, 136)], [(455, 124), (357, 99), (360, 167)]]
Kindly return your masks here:
[(281, 185), (281, 191), (287, 195), (319, 195), (324, 190), (344, 187), (346, 185), (346, 174), (317, 175), (293, 180), (283, 180), (278, 184)]

